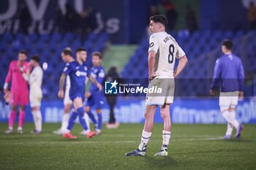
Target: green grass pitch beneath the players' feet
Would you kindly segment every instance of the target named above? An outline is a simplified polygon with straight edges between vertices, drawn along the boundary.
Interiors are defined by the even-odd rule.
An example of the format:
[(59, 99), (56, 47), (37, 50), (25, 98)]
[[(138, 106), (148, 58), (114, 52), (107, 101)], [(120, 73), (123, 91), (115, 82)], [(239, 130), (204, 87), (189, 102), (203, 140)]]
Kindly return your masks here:
[[(43, 133), (0, 134), (0, 169), (256, 169), (256, 125), (245, 125), (241, 139), (221, 139), (226, 125), (173, 125), (169, 155), (156, 158), (162, 125), (154, 126), (146, 157), (125, 157), (140, 143), (141, 124), (103, 129), (100, 136), (67, 140), (52, 134), (59, 124), (44, 124)], [(1, 131), (7, 124), (0, 124)], [(15, 129), (16, 130), (16, 129)], [(72, 134), (81, 131), (75, 125)], [(233, 131), (235, 133), (235, 131)]]

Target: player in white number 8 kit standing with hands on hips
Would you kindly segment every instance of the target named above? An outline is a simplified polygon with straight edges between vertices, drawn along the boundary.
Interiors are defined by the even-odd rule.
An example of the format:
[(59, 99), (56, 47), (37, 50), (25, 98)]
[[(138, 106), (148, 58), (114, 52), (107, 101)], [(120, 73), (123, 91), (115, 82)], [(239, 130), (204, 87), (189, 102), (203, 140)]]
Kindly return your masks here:
[[(141, 135), (139, 147), (126, 156), (144, 156), (146, 147), (154, 125), (154, 113), (160, 106), (160, 113), (164, 120), (162, 131), (162, 147), (155, 156), (167, 156), (167, 148), (171, 135), (170, 104), (173, 104), (174, 78), (181, 73), (187, 64), (187, 56), (184, 50), (170, 34), (165, 32), (167, 19), (165, 15), (154, 15), (150, 19), (149, 29), (153, 33), (150, 36), (148, 49), (148, 88), (157, 86), (162, 88), (162, 94), (146, 95), (145, 124)], [(178, 67), (174, 72), (175, 60), (178, 58)]]

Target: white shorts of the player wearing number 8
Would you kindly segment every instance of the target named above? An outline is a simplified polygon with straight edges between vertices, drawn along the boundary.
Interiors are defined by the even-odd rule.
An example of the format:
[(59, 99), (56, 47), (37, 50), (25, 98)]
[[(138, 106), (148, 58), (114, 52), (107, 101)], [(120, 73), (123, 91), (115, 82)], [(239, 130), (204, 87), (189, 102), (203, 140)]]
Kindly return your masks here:
[(154, 80), (151, 80), (148, 85), (149, 89), (162, 89), (161, 93), (147, 93), (146, 94), (146, 105), (164, 105), (164, 104), (173, 104), (174, 88), (175, 82), (173, 78), (160, 79), (155, 77)]

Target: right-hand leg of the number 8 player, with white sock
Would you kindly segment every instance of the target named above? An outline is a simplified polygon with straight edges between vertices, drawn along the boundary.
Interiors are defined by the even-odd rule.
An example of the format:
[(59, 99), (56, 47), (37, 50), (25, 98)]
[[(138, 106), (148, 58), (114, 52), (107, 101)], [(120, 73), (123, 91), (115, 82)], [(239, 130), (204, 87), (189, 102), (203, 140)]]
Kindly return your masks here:
[(162, 131), (162, 147), (155, 156), (167, 156), (168, 145), (171, 136), (171, 121), (170, 121), (170, 104), (164, 104), (160, 107), (161, 117), (164, 120), (164, 130)]

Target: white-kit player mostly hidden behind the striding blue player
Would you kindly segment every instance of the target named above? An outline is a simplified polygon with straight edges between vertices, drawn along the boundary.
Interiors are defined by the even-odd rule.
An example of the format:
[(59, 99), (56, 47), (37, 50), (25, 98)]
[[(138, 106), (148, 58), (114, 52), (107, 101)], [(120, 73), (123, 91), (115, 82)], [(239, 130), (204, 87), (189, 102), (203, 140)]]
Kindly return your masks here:
[[(61, 52), (61, 58), (64, 61), (64, 63), (66, 63), (66, 66), (72, 61), (75, 61), (75, 59), (72, 58), (72, 50), (70, 47), (65, 48)], [(72, 100), (69, 98), (69, 88), (70, 78), (69, 75), (67, 75), (66, 88), (64, 93), (64, 114), (61, 121), (61, 128), (59, 128), (57, 131), (53, 131), (53, 134), (62, 135), (65, 131), (67, 131), (67, 125), (69, 124), (69, 114), (72, 108)]]

